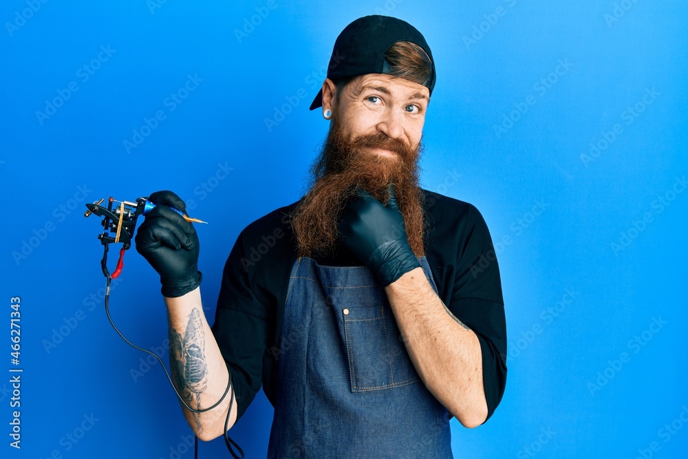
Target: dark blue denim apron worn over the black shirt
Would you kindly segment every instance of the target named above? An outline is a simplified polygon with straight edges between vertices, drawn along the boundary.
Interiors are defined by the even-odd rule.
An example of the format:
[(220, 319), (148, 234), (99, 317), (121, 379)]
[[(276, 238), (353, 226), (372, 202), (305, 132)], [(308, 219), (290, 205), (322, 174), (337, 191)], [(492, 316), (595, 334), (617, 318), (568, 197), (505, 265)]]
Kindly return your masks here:
[(297, 259), (279, 350), (268, 458), (453, 457), (447, 409), (420, 380), (365, 266)]

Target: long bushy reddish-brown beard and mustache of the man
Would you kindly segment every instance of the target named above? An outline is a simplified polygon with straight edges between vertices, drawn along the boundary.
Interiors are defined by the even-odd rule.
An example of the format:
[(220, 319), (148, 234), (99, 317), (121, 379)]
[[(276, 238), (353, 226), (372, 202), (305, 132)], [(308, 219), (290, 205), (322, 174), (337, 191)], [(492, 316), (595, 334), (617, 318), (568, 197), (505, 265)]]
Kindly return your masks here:
[[(368, 148), (394, 151), (396, 156), (378, 156)], [(339, 237), (337, 225), (348, 200), (358, 189), (364, 189), (387, 204), (389, 184), (394, 184), (409, 246), (416, 257), (424, 255), (423, 193), (418, 184), (421, 150), (420, 144), (412, 148), (381, 133), (350, 140), (335, 114), (321, 154), (311, 167), (312, 186), (292, 211), (299, 257), (332, 252)]]

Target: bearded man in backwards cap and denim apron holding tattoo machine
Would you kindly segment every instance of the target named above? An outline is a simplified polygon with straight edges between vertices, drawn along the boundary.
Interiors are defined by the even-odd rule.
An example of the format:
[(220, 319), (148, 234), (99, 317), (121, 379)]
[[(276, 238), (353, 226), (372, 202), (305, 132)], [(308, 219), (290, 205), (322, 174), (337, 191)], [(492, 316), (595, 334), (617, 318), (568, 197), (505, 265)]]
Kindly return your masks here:
[(202, 440), (261, 384), (271, 458), (451, 458), (450, 416), (475, 427), (494, 412), (506, 325), (491, 237), (471, 204), (418, 186), (435, 80), (408, 23), (370, 16), (343, 30), (311, 106), (331, 125), (310, 191), (241, 232), (212, 330), (197, 235), (166, 207), (184, 202), (151, 195), (164, 205), (136, 248), (160, 273), (175, 384), (200, 409), (232, 383), (217, 407), (184, 409)]

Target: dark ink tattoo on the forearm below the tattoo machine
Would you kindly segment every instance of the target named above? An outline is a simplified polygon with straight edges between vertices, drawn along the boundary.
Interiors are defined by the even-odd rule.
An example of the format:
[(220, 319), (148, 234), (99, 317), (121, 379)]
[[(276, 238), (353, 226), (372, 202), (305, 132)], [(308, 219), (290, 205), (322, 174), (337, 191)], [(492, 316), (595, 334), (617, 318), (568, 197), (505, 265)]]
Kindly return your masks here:
[[(175, 385), (186, 400), (195, 409), (200, 407), (201, 394), (208, 385), (208, 367), (205, 348), (205, 334), (201, 313), (194, 308), (189, 314), (184, 337), (170, 326), (170, 366)], [(195, 406), (191, 403), (195, 401)], [(200, 429), (200, 414), (194, 413), (196, 426)]]

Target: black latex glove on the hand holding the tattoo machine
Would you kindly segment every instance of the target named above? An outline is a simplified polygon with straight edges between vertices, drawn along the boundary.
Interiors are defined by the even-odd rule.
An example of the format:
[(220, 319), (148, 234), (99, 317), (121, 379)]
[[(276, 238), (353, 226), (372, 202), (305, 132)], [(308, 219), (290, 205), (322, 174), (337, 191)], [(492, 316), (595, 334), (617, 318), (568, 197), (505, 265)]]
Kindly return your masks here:
[(198, 270), (198, 236), (186, 215), (186, 204), (171, 191), (156, 191), (149, 200), (158, 204), (136, 232), (136, 250), (160, 274), (162, 295), (181, 297), (201, 284)]

